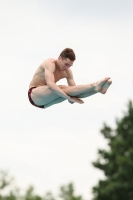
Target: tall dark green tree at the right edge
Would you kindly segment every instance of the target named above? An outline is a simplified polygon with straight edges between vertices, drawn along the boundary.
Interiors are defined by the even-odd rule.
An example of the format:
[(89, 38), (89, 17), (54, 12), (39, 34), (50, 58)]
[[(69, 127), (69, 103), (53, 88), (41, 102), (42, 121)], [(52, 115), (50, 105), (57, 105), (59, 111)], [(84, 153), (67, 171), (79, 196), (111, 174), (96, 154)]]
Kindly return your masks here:
[(94, 167), (102, 170), (105, 179), (93, 187), (93, 200), (133, 200), (133, 103), (116, 119), (116, 128), (103, 125), (101, 133), (108, 140), (109, 150), (98, 150)]

